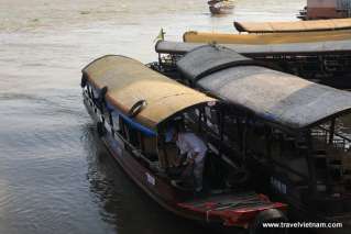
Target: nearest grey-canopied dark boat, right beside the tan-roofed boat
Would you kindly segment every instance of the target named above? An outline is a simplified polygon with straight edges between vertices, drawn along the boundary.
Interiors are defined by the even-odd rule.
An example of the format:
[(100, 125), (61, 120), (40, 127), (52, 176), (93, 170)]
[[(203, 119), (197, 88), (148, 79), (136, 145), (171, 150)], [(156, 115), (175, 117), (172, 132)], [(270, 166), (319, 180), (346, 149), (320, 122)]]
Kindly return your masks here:
[(242, 159), (259, 191), (287, 202), (293, 219), (342, 223), (317, 232), (350, 233), (351, 137), (340, 121), (351, 116), (351, 92), (216, 45), (180, 57), (172, 77), (228, 103), (207, 115), (208, 131), (220, 129), (213, 143)]

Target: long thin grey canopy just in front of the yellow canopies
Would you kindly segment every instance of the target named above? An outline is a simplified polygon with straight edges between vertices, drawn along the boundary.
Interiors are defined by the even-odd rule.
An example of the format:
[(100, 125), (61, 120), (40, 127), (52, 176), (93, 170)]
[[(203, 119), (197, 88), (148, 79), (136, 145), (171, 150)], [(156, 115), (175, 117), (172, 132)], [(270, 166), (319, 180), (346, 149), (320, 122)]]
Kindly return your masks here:
[[(155, 45), (155, 51), (163, 54), (184, 55), (205, 43), (183, 43), (160, 41)], [(221, 44), (242, 55), (260, 54), (330, 54), (330, 53), (350, 53), (351, 40), (328, 41), (315, 43), (288, 43), (288, 44), (270, 44), (270, 45), (244, 45), (244, 44)]]

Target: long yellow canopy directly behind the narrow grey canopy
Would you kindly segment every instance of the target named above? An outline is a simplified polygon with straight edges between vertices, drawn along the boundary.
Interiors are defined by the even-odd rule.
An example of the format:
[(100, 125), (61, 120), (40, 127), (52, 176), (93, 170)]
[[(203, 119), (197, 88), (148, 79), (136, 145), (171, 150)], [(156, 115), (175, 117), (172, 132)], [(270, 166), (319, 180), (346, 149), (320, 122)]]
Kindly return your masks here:
[(284, 43), (312, 43), (325, 41), (351, 40), (350, 30), (305, 32), (305, 33), (270, 33), (270, 34), (229, 34), (189, 31), (183, 34), (183, 41), (189, 43), (218, 43), (218, 44), (284, 44)]

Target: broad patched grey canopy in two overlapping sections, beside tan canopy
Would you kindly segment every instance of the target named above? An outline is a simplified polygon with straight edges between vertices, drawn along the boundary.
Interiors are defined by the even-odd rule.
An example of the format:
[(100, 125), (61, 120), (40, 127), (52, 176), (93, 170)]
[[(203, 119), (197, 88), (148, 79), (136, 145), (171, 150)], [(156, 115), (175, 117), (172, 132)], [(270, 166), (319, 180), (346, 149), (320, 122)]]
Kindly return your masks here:
[[(216, 70), (197, 79), (196, 86), (215, 97), (288, 129), (305, 129), (351, 112), (351, 93), (314, 83), (257, 65), (232, 63), (221, 69), (218, 59), (233, 54), (229, 48), (201, 46), (177, 63), (188, 79), (198, 70)], [(204, 52), (204, 53), (202, 53)], [(194, 54), (197, 60), (194, 59)], [(237, 56), (242, 59), (242, 56)], [(210, 69), (208, 65), (213, 63)], [(217, 68), (219, 69), (217, 69)], [(189, 76), (194, 77), (189, 77)]]

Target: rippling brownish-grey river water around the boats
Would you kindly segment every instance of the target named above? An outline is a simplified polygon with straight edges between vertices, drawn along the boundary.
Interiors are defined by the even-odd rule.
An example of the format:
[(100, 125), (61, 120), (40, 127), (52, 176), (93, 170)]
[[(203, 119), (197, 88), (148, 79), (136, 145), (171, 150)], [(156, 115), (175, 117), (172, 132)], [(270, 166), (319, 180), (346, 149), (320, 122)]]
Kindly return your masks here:
[(96, 137), (80, 69), (105, 54), (156, 59), (153, 40), (295, 20), (306, 0), (0, 0), (0, 234), (212, 233), (164, 211)]

